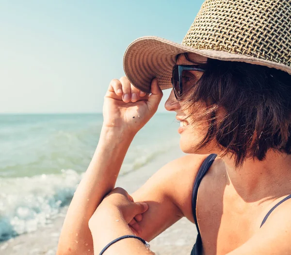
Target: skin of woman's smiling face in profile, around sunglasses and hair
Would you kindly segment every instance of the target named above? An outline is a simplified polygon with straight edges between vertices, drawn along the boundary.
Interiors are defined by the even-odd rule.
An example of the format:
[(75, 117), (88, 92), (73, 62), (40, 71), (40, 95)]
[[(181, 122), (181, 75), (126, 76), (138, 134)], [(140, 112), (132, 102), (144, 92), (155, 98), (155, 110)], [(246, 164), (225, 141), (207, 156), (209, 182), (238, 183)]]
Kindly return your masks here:
[[(188, 53), (188, 58), (192, 60), (194, 63), (205, 63), (207, 61), (206, 57), (199, 56), (195, 53)], [(181, 54), (178, 58), (177, 65), (194, 65), (194, 63), (189, 62), (184, 54)], [(198, 71), (184, 71), (183, 76), (185, 75), (185, 79), (187, 77), (191, 77), (193, 80), (198, 80), (202, 76), (202, 72)], [(191, 80), (188, 79), (188, 80)], [(183, 79), (184, 81), (184, 79)], [(183, 91), (185, 91), (185, 86), (189, 85), (183, 83)], [(193, 119), (191, 119), (190, 111), (183, 107), (182, 102), (178, 102), (174, 91), (172, 89), (171, 94), (168, 100), (165, 102), (165, 108), (168, 111), (175, 111), (177, 113), (176, 119), (180, 121), (180, 128), (178, 132), (180, 134), (180, 148), (184, 153), (199, 153), (206, 154), (213, 152), (213, 144), (207, 146), (207, 148), (203, 148), (202, 150), (195, 150), (195, 146), (205, 137), (208, 131), (208, 123), (204, 121), (203, 123), (193, 123)], [(196, 113), (194, 113), (196, 114)], [(197, 112), (197, 114), (199, 114)], [(187, 118), (188, 117), (188, 118)], [(187, 120), (184, 120), (187, 118)]]

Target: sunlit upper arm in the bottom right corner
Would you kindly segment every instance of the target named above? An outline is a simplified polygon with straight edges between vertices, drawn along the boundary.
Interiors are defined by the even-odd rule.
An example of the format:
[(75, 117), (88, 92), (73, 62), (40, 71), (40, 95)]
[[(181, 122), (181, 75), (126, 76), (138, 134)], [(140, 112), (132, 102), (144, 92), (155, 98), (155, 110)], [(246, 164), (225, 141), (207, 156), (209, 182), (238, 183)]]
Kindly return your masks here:
[(285, 201), (269, 216), (258, 233), (227, 255), (291, 254), (291, 200)]

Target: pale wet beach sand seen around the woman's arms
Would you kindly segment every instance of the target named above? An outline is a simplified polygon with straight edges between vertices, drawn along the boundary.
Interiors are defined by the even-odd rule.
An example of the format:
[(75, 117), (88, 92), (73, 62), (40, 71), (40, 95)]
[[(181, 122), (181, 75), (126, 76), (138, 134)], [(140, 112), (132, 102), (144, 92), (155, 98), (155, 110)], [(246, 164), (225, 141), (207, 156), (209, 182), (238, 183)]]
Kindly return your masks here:
[[(116, 187), (129, 193), (141, 187), (146, 180), (169, 160), (182, 156), (177, 148), (162, 154), (139, 170), (118, 178)], [(56, 219), (32, 233), (12, 238), (0, 244), (1, 255), (54, 255), (67, 207)], [(194, 224), (183, 218), (150, 242), (151, 250), (157, 255), (190, 255), (197, 232)]]

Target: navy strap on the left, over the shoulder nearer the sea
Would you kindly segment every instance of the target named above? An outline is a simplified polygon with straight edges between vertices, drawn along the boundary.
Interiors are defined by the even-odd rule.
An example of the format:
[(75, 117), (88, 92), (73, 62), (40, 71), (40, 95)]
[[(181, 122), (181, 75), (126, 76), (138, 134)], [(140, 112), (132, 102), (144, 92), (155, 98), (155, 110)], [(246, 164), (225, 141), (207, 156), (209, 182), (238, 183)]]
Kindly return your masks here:
[(216, 158), (217, 154), (210, 154), (202, 163), (195, 182), (194, 182), (194, 188), (192, 193), (192, 213), (194, 216), (194, 221), (196, 223), (197, 231), (200, 233), (197, 223), (197, 216), (196, 216), (196, 201), (197, 201), (197, 194), (198, 194), (198, 187), (204, 177), (204, 175), (207, 173), (208, 169), (210, 168), (211, 164), (213, 163), (214, 159)]

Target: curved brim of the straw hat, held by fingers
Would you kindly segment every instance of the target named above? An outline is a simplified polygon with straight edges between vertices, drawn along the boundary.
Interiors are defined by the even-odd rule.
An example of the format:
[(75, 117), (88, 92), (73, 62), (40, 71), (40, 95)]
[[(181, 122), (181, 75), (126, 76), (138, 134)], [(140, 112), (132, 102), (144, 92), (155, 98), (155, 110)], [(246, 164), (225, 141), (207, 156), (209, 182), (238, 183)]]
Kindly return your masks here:
[(176, 65), (176, 56), (186, 52), (222, 61), (246, 62), (276, 68), (291, 74), (291, 68), (284, 64), (226, 51), (198, 50), (156, 36), (140, 37), (129, 45), (123, 58), (124, 72), (132, 85), (146, 93), (150, 93), (151, 81), (155, 77), (161, 89), (171, 88), (172, 68)]

